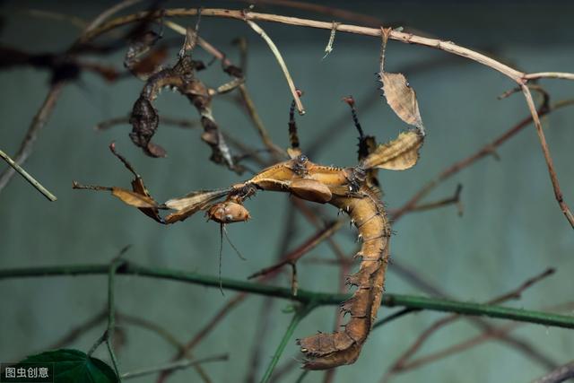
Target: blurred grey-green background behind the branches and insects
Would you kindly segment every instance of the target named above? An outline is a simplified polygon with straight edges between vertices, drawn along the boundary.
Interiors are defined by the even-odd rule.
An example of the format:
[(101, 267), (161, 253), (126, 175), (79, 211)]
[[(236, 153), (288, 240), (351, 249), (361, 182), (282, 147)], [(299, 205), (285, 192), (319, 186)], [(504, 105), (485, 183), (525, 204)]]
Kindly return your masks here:
[[(69, 22), (31, 17), (26, 9), (65, 13), (89, 20), (113, 2), (7, 1), (2, 6), (2, 44), (33, 52), (62, 51), (79, 33)], [(413, 27), (441, 39), (489, 52), (528, 72), (574, 71), (574, 31), (570, 28), (574, 4), (569, 2), (329, 2), (335, 7), (378, 17), (386, 25)], [(140, 7), (143, 5), (140, 4)], [(168, 7), (246, 6), (239, 2), (167, 2)], [(133, 11), (137, 6), (131, 8)], [(282, 13), (332, 21), (325, 14), (310, 13), (283, 6), (258, 4), (259, 12)], [(345, 22), (344, 20), (337, 20)], [(195, 19), (179, 19), (188, 25)], [(390, 139), (404, 129), (378, 91), (374, 73), (378, 70), (379, 40), (337, 33), (335, 49), (323, 57), (328, 30), (311, 30), (261, 22), (283, 52), (298, 87), (305, 91), (307, 114), (298, 118), (303, 150), (327, 135), (313, 161), (340, 166), (356, 161), (356, 133), (349, 110), (341, 98), (352, 94), (358, 101), (361, 124), (379, 141)], [(204, 17), (200, 34), (229, 57), (239, 60), (231, 44), (237, 37), (248, 39), (247, 84), (276, 144), (287, 145), (287, 115), (291, 95), (273, 55), (257, 34), (242, 22)], [(168, 40), (180, 39), (166, 30)], [(177, 43), (176, 43), (177, 45)], [(172, 60), (177, 48), (172, 49)], [(197, 56), (210, 57), (197, 49)], [(123, 51), (105, 58), (93, 57), (121, 67)], [(380, 180), (385, 202), (390, 208), (402, 205), (422, 184), (454, 161), (487, 144), (522, 118), (528, 111), (520, 95), (497, 100), (514, 86), (490, 68), (431, 48), (390, 42), (387, 70), (403, 72), (417, 91), (428, 138), (421, 161), (412, 170), (383, 171)], [(228, 77), (216, 63), (202, 74), (204, 82), (218, 85)], [(30, 120), (48, 91), (49, 74), (31, 68), (0, 73), (2, 129), (0, 147), (8, 153), (17, 150)], [(552, 101), (571, 99), (573, 84), (544, 80)], [(108, 144), (117, 142), (143, 175), (153, 196), (164, 201), (190, 190), (225, 187), (239, 182), (229, 170), (207, 161), (208, 147), (200, 131), (161, 126), (155, 142), (169, 157), (154, 160), (131, 144), (129, 126), (105, 132), (93, 129), (98, 122), (126, 116), (142, 83), (126, 78), (105, 83), (93, 74), (65, 87), (57, 108), (41, 131), (25, 168), (54, 192), (58, 200), (48, 203), (22, 178), (15, 177), (0, 194), (0, 266), (104, 264), (120, 248), (133, 245), (126, 257), (138, 264), (217, 274), (219, 228), (200, 216), (164, 227), (128, 208), (109, 195), (74, 191), (72, 180), (83, 183), (127, 187), (131, 175), (110, 155)], [(163, 93), (156, 103), (161, 116), (197, 118), (196, 110), (176, 93)], [(222, 129), (250, 146), (261, 148), (255, 129), (232, 95), (214, 100), (214, 116)], [(564, 196), (574, 204), (574, 177), (571, 172), (574, 144), (573, 109), (561, 109), (544, 118), (546, 137), (552, 150)], [(542, 309), (572, 300), (574, 291), (574, 236), (552, 194), (544, 158), (533, 126), (498, 150), (500, 161), (487, 157), (475, 163), (432, 192), (428, 200), (452, 195), (458, 183), (464, 187), (464, 215), (454, 206), (425, 213), (412, 213), (394, 226), (392, 256), (387, 291), (429, 295), (420, 284), (412, 283), (401, 270), (422, 275), (424, 281), (458, 300), (483, 301), (507, 292), (547, 266), (555, 275), (528, 290), (513, 307)], [(251, 165), (254, 167), (255, 165)], [(6, 165), (0, 163), (0, 170)], [(260, 193), (248, 202), (253, 220), (229, 227), (230, 238), (248, 257), (241, 261), (224, 244), (222, 274), (245, 279), (279, 254), (299, 245), (313, 229), (299, 213), (296, 231), (285, 248), (281, 247), (285, 222), (292, 209), (283, 194)], [(335, 209), (325, 209), (335, 217)], [(355, 247), (348, 229), (335, 237), (352, 254)], [(330, 248), (321, 245), (306, 257), (333, 259)], [(335, 292), (338, 272), (331, 265), (300, 262), (300, 287)], [(285, 274), (274, 283), (287, 286)], [(51, 277), (0, 281), (0, 360), (14, 361), (45, 350), (75, 326), (92, 318), (106, 304), (106, 277)], [(135, 276), (118, 277), (117, 309), (120, 313), (160, 324), (187, 342), (227, 300), (217, 289), (150, 280)], [(259, 379), (278, 344), (291, 314), (283, 313), (290, 303), (276, 300), (262, 311), (264, 298), (251, 296), (233, 309), (222, 323), (199, 344), (197, 357), (229, 353), (230, 361), (207, 364), (204, 369), (213, 382), (246, 381), (251, 369), (251, 350), (261, 344), (261, 357), (255, 376)], [(390, 309), (381, 309), (379, 317)], [(569, 313), (569, 311), (566, 311)], [(570, 314), (574, 311), (570, 310)], [(265, 316), (265, 318), (263, 318)], [(377, 382), (408, 344), (442, 315), (430, 311), (407, 316), (383, 326), (370, 335), (361, 358), (340, 368), (336, 382)], [(300, 324), (295, 337), (334, 325), (335, 308), (317, 309)], [(265, 334), (263, 323), (268, 324)], [(493, 325), (505, 324), (489, 320)], [(101, 334), (105, 324), (78, 337), (71, 347), (86, 351)], [(124, 345), (118, 352), (122, 371), (149, 367), (168, 361), (173, 346), (160, 336), (136, 326), (122, 325)], [(479, 330), (468, 321), (448, 326), (425, 344), (420, 355), (458, 343)], [(513, 333), (532, 344), (556, 364), (574, 355), (574, 333), (545, 326), (520, 326)], [(96, 356), (108, 360), (105, 347)], [(291, 341), (280, 364), (298, 358)], [(392, 381), (412, 382), (520, 382), (543, 374), (544, 367), (523, 353), (500, 342), (481, 344), (464, 353), (424, 367), (398, 374)], [(298, 369), (283, 377), (295, 381)], [(135, 379), (152, 382), (154, 377)], [(322, 372), (310, 373), (305, 381), (323, 379)], [(176, 372), (172, 382), (200, 381), (193, 369)]]

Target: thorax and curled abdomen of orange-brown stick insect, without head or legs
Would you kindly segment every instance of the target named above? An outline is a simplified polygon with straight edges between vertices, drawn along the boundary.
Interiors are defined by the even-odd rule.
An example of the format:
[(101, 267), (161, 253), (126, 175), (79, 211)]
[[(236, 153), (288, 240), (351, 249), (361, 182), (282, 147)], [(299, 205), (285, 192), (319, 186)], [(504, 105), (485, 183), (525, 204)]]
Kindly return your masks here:
[[(325, 370), (356, 361), (380, 306), (390, 228), (377, 192), (364, 183), (364, 178), (357, 184), (361, 182), (355, 176), (357, 172), (361, 170), (321, 166), (305, 157), (305, 161), (297, 158), (277, 164), (247, 182), (264, 190), (290, 191), (312, 202), (335, 205), (349, 214), (363, 241), (357, 253), (361, 257), (360, 269), (347, 278), (347, 283), (356, 286), (356, 290), (341, 305), (351, 315), (344, 331), (319, 333), (298, 341), (301, 351), (309, 357), (305, 363), (309, 370)], [(326, 199), (327, 196), (330, 198)]]

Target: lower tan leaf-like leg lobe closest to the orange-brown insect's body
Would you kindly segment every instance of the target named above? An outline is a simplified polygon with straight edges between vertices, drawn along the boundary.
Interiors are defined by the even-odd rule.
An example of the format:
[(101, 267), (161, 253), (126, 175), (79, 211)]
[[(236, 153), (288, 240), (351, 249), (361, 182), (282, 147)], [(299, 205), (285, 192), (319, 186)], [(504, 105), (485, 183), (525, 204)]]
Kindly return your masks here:
[(377, 149), (362, 161), (362, 166), (369, 170), (381, 168), (387, 170), (406, 170), (412, 168), (419, 159), (423, 135), (418, 130), (408, 130), (387, 144), (378, 145)]

